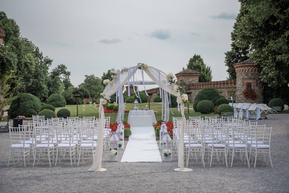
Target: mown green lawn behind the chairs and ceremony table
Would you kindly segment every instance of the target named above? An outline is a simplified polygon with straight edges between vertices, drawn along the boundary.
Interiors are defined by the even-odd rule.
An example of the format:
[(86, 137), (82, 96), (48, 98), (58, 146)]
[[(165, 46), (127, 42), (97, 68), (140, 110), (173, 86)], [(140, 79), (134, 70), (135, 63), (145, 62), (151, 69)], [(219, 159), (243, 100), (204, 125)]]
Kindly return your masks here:
[[(148, 103), (139, 103), (139, 109), (144, 109), (145, 105), (148, 105)], [(162, 105), (161, 104), (157, 104), (157, 103), (150, 103), (151, 105), (151, 110), (155, 110), (157, 111), (156, 115), (156, 119), (159, 120), (162, 117)], [(55, 112), (57, 112), (59, 109), (62, 108), (66, 108), (68, 110), (70, 110), (71, 112), (71, 117), (76, 117), (76, 105), (67, 105), (65, 107), (59, 107), (59, 108), (55, 108)], [(127, 103), (126, 104), (126, 110), (132, 110), (133, 109), (133, 103)], [(178, 108), (172, 108), (172, 112), (174, 113), (174, 115), (170, 112), (170, 118), (169, 121), (172, 122), (172, 117), (181, 117), (181, 112), (178, 112)], [(129, 113), (125, 113), (124, 114), (124, 120), (127, 121), (127, 117), (128, 117)], [(199, 112), (194, 112), (193, 110), (190, 110), (190, 113), (188, 114), (188, 109), (185, 109), (185, 116), (186, 118), (188, 118), (189, 116), (201, 116), (201, 117), (205, 117), (205, 116), (216, 116), (217, 114), (210, 114), (210, 115), (205, 115), (205, 114), (201, 114)], [(89, 116), (95, 116), (98, 117), (98, 110), (95, 110), (92, 106), (85, 105), (85, 111), (82, 111), (82, 105), (78, 105), (78, 116), (79, 118), (83, 118), (83, 116), (85, 117), (89, 117)], [(110, 116), (110, 122), (115, 122), (115, 120), (117, 119), (117, 113), (105, 113), (105, 116)]]

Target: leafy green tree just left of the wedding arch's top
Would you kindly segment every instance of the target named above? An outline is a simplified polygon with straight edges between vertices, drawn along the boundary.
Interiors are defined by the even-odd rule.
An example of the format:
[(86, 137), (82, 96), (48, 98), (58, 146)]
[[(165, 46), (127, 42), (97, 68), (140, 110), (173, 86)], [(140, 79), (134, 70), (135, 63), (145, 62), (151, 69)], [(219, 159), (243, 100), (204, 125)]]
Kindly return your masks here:
[(104, 90), (101, 79), (96, 77), (94, 74), (85, 75), (84, 82), (79, 84), (78, 87), (83, 87), (86, 90), (89, 90), (90, 97), (93, 99), (100, 97), (100, 93)]

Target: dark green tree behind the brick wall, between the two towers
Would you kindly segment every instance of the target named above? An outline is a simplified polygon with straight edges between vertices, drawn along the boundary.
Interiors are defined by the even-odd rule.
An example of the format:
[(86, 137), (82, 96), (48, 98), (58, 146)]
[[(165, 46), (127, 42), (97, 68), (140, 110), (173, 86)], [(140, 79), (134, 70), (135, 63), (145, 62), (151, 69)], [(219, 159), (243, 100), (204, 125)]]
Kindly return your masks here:
[[(189, 59), (187, 68), (201, 73), (199, 77), (199, 82), (212, 81), (213, 76), (211, 67), (207, 66), (204, 63), (204, 60), (201, 58), (200, 55), (194, 54), (194, 56)], [(183, 70), (185, 70), (185, 68), (183, 68)]]

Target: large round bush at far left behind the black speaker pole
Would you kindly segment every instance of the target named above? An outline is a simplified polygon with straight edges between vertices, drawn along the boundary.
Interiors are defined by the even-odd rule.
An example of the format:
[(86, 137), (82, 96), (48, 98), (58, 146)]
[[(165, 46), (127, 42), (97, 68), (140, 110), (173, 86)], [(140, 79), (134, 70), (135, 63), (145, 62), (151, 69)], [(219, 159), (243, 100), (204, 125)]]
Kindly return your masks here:
[[(36, 96), (29, 93), (19, 93), (18, 97), (20, 98), (19, 115), (23, 115), (25, 117), (37, 115), (41, 108), (41, 102)], [(9, 115), (11, 118), (17, 117), (17, 98), (12, 100), (9, 110)]]

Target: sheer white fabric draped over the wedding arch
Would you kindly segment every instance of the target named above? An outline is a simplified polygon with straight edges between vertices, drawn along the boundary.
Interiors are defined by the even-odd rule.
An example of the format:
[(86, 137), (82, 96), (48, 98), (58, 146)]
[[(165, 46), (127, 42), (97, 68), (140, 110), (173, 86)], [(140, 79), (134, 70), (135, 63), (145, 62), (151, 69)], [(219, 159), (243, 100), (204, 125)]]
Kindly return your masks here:
[[(123, 98), (121, 100), (121, 88), (124, 84), (127, 84), (128, 81), (131, 80), (132, 77), (134, 77), (135, 72), (138, 70), (138, 68), (141, 67), (141, 65), (133, 66), (130, 68), (124, 68), (120, 71), (116, 71), (117, 77), (113, 79), (113, 81), (110, 81), (107, 86), (104, 89), (103, 92), (103, 98), (108, 100), (111, 95), (114, 93), (118, 92), (118, 100), (120, 102), (123, 102)], [(174, 95), (174, 96), (180, 96), (179, 92), (177, 90), (173, 90), (169, 84), (168, 78), (165, 73), (162, 71), (151, 67), (151, 66), (143, 66), (142, 69), (148, 76), (149, 78), (152, 79), (163, 91), (164, 95), (162, 96), (164, 98), (165, 102), (165, 119), (168, 121), (169, 119), (169, 98), (168, 98), (168, 93)], [(143, 73), (143, 72), (142, 72)], [(133, 78), (134, 79), (134, 78)], [(133, 80), (134, 81), (134, 80)], [(134, 82), (132, 82), (134, 83)], [(161, 94), (161, 93), (160, 93)], [(105, 103), (103, 103), (105, 104)], [(102, 151), (103, 151), (103, 133), (104, 133), (104, 109), (103, 109), (103, 104), (100, 103), (100, 108), (99, 108), (99, 126), (98, 126), (98, 151), (97, 154), (95, 155), (95, 160), (96, 162), (92, 164), (90, 167), (89, 171), (102, 171), (101, 169), (101, 159), (102, 159)], [(123, 106), (123, 105), (119, 105)], [(184, 134), (184, 128), (185, 128), (185, 115), (184, 115), (184, 103), (181, 103), (181, 114), (182, 114), (182, 127), (180, 129), (180, 141), (179, 141), (179, 160), (178, 160), (178, 166), (180, 169), (184, 169), (184, 140), (183, 140), (183, 134)], [(117, 115), (117, 120), (123, 120), (123, 111), (120, 112), (120, 109), (118, 111)]]

